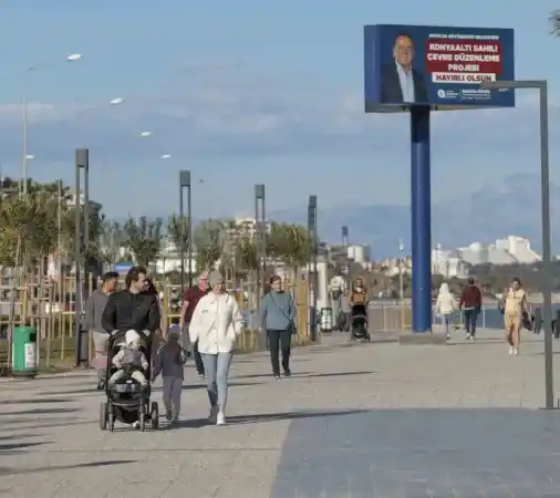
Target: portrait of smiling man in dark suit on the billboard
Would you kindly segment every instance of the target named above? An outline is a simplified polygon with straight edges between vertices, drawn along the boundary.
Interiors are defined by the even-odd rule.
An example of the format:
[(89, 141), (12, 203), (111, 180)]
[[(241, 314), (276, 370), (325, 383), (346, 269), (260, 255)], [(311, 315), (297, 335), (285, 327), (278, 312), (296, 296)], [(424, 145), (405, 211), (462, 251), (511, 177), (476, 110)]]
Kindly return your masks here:
[(385, 104), (428, 103), (423, 71), (413, 68), (414, 41), (401, 33), (393, 43), (393, 61), (381, 68), (381, 102)]

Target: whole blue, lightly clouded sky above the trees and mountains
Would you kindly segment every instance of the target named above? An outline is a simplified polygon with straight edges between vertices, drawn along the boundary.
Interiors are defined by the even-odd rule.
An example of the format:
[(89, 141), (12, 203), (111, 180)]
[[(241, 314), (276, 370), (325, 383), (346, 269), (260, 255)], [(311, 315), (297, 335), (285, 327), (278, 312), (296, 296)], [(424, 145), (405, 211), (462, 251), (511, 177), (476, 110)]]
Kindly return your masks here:
[[(551, 178), (560, 181), (560, 3), (471, 0), (4, 0), (0, 165), (19, 176), (28, 101), (29, 176), (74, 178), (89, 147), (91, 196), (108, 216), (177, 210), (190, 169), (196, 218), (267, 209), (406, 205), (406, 115), (363, 112), (363, 25), (516, 30), (517, 79), (550, 81)], [(71, 53), (82, 53), (68, 62)], [(35, 70), (25, 72), (29, 66)], [(113, 98), (121, 105), (110, 105)], [(538, 97), (515, 110), (436, 113), (434, 201), (539, 172)], [(142, 132), (152, 132), (141, 137)], [(170, 155), (162, 159), (162, 155)]]

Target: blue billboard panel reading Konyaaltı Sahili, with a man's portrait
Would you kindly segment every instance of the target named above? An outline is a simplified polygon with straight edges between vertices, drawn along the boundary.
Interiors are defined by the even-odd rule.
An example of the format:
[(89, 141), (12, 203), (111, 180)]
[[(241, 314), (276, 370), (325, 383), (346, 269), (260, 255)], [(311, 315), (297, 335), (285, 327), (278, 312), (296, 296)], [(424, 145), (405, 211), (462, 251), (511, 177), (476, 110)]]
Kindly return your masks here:
[(514, 107), (514, 30), (378, 24), (364, 28), (365, 112)]

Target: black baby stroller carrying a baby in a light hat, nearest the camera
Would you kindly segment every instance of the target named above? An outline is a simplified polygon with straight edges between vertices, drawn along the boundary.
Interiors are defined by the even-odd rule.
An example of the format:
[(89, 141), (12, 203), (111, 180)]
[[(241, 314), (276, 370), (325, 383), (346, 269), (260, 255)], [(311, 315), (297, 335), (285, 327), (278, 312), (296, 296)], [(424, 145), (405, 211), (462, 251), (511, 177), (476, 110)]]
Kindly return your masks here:
[(122, 333), (116, 333), (107, 341), (107, 364), (105, 371), (105, 395), (106, 401), (100, 407), (100, 427), (102, 430), (113, 432), (115, 421), (123, 424), (137, 423), (138, 428), (144, 432), (146, 424), (156, 430), (159, 424), (159, 409), (157, 402), (149, 403), (152, 391), (152, 347), (149, 344), (143, 344), (141, 351), (145, 354), (148, 362), (148, 371), (145, 372), (147, 385), (143, 387), (138, 382), (132, 378), (134, 369), (125, 367), (122, 378), (111, 385), (108, 380), (118, 370), (113, 365), (113, 357), (118, 353), (120, 342), (123, 340)]

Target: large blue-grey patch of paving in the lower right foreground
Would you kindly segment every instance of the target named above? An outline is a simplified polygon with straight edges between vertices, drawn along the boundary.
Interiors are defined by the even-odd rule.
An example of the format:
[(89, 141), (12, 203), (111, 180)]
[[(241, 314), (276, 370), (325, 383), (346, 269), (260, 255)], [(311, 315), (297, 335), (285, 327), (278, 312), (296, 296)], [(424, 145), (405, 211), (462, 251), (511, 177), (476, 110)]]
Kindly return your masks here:
[(294, 421), (271, 498), (558, 497), (560, 418), (527, 408), (373, 409)]

